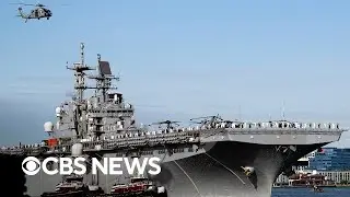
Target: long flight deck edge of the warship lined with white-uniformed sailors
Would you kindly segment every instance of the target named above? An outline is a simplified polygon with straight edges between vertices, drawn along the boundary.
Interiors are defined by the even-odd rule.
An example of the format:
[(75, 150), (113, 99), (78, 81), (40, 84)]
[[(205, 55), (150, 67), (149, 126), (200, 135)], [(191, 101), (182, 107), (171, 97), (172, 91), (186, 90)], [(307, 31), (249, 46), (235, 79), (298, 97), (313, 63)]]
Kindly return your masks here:
[[(164, 144), (179, 143), (198, 143), (200, 137), (207, 135), (217, 135), (218, 131), (228, 130), (229, 132), (249, 131), (265, 134), (266, 131), (343, 131), (339, 124), (300, 124), (300, 123), (222, 123), (213, 126), (197, 126), (188, 128), (177, 128), (168, 130), (153, 130), (142, 132), (129, 132), (125, 135), (115, 135), (96, 140), (72, 140), (70, 143), (59, 144), (54, 148), (48, 148), (45, 143), (22, 144), (12, 148), (2, 148), (0, 153), (10, 154), (39, 154), (39, 153), (69, 153), (73, 142), (83, 143), (85, 151), (92, 150), (112, 150), (112, 149), (128, 149), (129, 147), (155, 147)], [(205, 135), (205, 136), (202, 136)]]

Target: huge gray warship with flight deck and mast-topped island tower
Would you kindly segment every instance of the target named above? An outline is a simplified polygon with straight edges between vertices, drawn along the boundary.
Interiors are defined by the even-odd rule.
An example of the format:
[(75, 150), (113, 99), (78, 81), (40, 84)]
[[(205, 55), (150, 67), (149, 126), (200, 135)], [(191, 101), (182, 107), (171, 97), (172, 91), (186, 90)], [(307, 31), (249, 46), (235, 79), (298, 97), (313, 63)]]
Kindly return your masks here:
[[(56, 124), (45, 123), (48, 139), (2, 148), (1, 153), (88, 159), (158, 157), (161, 173), (145, 176), (164, 186), (170, 197), (270, 197), (279, 174), (292, 175), (298, 159), (338, 141), (347, 130), (332, 123), (238, 121), (219, 115), (192, 118), (190, 121), (197, 125), (189, 126), (171, 120), (140, 126), (135, 106), (113, 83), (119, 78), (112, 73), (108, 61), (97, 55), (96, 68), (85, 65), (81, 44), (80, 62), (67, 69), (74, 72), (75, 93), (56, 108)], [(88, 80), (94, 81), (93, 85)], [(61, 178), (42, 172), (26, 176), (27, 194), (55, 190)], [(105, 193), (115, 188), (116, 179), (129, 182), (115, 175), (84, 175), (89, 187), (101, 187)]]

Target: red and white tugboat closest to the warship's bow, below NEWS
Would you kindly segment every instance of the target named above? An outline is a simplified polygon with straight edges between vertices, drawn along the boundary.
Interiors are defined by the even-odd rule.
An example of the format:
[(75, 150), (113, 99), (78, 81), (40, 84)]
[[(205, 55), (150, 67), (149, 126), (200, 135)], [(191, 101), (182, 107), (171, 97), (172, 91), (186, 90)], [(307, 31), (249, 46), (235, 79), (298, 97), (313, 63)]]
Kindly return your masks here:
[(129, 184), (115, 184), (110, 194), (113, 196), (152, 196), (167, 197), (164, 186), (156, 186), (152, 181), (143, 176), (133, 176)]

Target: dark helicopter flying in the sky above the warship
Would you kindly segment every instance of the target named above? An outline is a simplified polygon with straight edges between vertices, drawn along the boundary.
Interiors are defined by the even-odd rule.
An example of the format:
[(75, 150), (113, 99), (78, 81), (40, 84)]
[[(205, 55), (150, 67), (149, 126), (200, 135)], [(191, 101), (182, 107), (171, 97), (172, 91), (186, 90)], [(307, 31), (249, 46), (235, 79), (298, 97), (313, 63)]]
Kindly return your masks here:
[(19, 7), (19, 9), (18, 9), (19, 15), (16, 15), (16, 16), (25, 19), (25, 23), (32, 19), (40, 20), (40, 19), (46, 18), (47, 20), (49, 20), (52, 16), (52, 12), (49, 9), (45, 8), (44, 4), (40, 4), (40, 3), (37, 3), (37, 4), (16, 3), (16, 4), (22, 4), (25, 7), (35, 7), (31, 11), (31, 13), (24, 13), (22, 7)]

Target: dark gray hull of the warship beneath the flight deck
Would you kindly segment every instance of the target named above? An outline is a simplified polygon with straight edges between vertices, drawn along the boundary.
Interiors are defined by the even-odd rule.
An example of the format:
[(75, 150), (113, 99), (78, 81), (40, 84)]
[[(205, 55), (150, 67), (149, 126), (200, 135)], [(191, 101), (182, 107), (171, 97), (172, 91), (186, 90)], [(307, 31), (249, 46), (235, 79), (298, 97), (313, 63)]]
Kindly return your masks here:
[[(162, 172), (150, 178), (164, 185), (170, 197), (270, 197), (272, 183), (283, 166), (290, 166), (322, 146), (324, 143), (298, 146), (295, 152), (285, 157), (277, 150), (279, 146), (217, 142), (206, 146), (205, 153), (164, 162)], [(254, 166), (255, 174), (246, 176), (241, 166)], [(30, 176), (28, 194), (37, 196), (54, 190), (60, 178), (44, 174)], [(100, 175), (100, 186), (108, 192), (115, 179), (115, 176)]]

